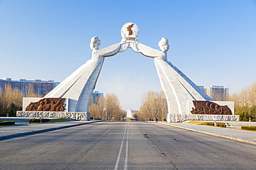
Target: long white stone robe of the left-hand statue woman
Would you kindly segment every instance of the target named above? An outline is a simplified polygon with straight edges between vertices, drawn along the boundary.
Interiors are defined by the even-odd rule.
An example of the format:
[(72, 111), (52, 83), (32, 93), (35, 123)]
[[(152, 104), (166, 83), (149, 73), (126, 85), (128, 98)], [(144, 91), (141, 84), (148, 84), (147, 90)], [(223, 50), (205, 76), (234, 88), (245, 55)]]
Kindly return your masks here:
[(103, 57), (87, 61), (44, 98), (69, 98), (68, 111), (88, 112), (91, 93), (103, 61)]

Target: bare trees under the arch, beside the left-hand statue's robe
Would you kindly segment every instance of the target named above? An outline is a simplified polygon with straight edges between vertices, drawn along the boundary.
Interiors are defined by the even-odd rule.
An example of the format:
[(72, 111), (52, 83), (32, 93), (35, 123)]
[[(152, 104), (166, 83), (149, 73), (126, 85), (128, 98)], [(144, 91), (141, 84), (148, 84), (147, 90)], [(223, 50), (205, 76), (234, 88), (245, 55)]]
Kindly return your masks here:
[(91, 103), (89, 112), (91, 117), (100, 120), (122, 120), (126, 115), (116, 94), (107, 94), (100, 97), (98, 103)]

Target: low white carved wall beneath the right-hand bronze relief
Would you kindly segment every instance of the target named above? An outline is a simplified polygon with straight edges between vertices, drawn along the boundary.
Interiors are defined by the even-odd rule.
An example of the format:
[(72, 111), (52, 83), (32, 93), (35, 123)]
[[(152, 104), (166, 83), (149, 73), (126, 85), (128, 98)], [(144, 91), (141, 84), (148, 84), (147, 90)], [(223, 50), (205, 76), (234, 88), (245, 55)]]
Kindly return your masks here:
[(181, 123), (186, 120), (239, 121), (239, 115), (214, 114), (167, 114), (168, 123)]

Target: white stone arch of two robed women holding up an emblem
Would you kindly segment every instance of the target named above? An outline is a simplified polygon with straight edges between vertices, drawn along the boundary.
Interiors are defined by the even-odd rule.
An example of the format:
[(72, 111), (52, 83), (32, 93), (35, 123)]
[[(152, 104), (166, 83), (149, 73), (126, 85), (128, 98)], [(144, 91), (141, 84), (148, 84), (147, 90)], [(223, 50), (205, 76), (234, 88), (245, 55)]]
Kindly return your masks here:
[[(135, 23), (125, 23), (120, 30), (122, 40), (103, 49), (100, 49), (101, 41), (98, 36), (93, 36), (90, 43), (91, 59), (75, 70), (73, 74), (68, 76), (44, 98), (66, 98), (65, 111), (88, 112), (91, 94), (98, 80), (104, 59), (131, 48), (134, 52), (154, 58), (161, 87), (167, 99), (167, 122), (181, 121), (181, 115), (199, 113), (200, 111), (194, 109), (193, 101), (212, 101), (212, 99), (201, 91), (181, 70), (167, 61), (167, 51), (169, 50), (167, 39), (161, 38), (158, 42), (160, 50), (156, 50), (139, 43), (137, 41), (138, 32), (138, 26)], [(201, 106), (201, 104), (198, 105)], [(205, 105), (202, 108), (206, 107), (208, 106)]]

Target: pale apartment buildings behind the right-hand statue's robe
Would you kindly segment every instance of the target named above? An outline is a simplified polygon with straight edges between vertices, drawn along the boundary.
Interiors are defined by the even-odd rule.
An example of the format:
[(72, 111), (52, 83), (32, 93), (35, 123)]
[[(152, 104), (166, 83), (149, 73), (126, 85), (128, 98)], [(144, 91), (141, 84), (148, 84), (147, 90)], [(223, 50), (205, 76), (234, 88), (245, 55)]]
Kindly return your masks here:
[(228, 99), (229, 88), (224, 88), (222, 85), (211, 85), (210, 87), (198, 86), (212, 100), (226, 101)]

